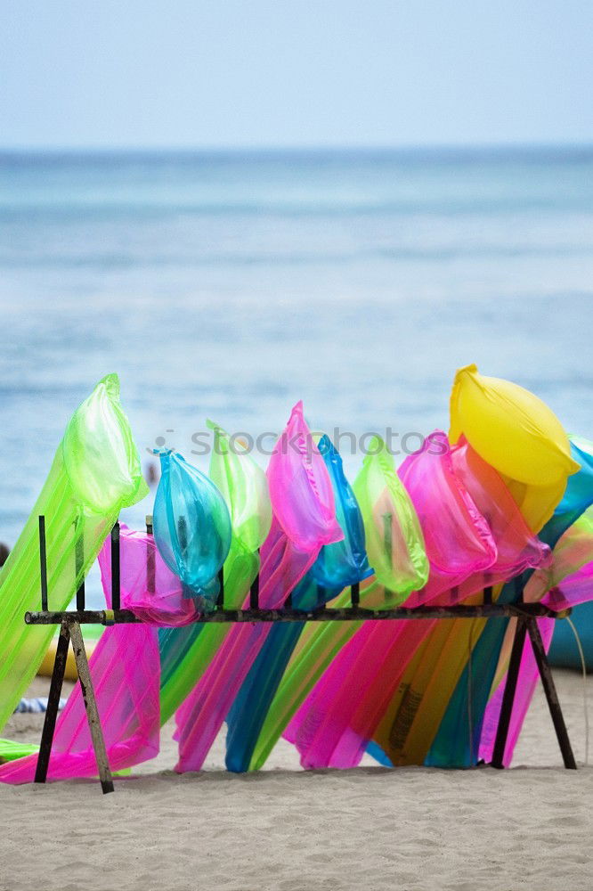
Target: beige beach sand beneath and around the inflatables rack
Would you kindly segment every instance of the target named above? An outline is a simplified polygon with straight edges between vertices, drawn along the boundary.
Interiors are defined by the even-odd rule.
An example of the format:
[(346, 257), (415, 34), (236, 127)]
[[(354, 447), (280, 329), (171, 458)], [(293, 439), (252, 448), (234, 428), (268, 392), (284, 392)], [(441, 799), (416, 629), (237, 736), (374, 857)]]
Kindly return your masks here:
[[(555, 677), (581, 764), (582, 679)], [(42, 722), (14, 715), (3, 735), (38, 741)], [(540, 690), (509, 771), (302, 772), (282, 741), (269, 769), (237, 776), (221, 737), (204, 772), (177, 776), (172, 732), (113, 795), (95, 781), (0, 784), (1, 891), (593, 887), (593, 769), (563, 769)]]

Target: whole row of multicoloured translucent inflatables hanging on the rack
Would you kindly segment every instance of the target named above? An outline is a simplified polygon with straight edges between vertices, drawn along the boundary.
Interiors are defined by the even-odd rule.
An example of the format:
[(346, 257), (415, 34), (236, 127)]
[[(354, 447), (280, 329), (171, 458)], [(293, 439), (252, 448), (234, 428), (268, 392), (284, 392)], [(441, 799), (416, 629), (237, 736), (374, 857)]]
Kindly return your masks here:
[[(211, 425), (209, 477), (162, 451), (153, 535), (122, 527), (121, 604), (142, 619), (114, 625), (91, 659), (110, 765), (158, 752), (175, 714), (176, 770), (199, 770), (223, 723), (232, 771), (260, 768), (284, 735), (305, 767), (470, 766), (491, 760), (512, 620), (198, 624), (223, 567), (229, 609), (349, 602), (448, 606), (494, 599), (565, 609), (589, 600), (593, 444), (567, 437), (536, 396), (461, 369), (449, 436), (435, 431), (399, 469), (378, 437), (351, 486), (328, 437), (314, 443), (293, 409), (264, 473)], [(0, 575), (0, 727), (44, 657), (53, 628), (39, 606), (37, 516), (46, 518), (50, 609), (66, 609), (98, 558), (110, 605), (106, 538), (147, 494), (118, 379), (102, 380), (72, 420), (19, 542)], [(103, 544), (105, 543), (105, 544)], [(549, 645), (554, 620), (539, 619)], [(505, 764), (537, 678), (523, 654)], [(21, 754), (21, 753), (19, 753)], [(9, 757), (9, 756), (6, 756)], [(0, 767), (33, 778), (35, 756)], [(79, 688), (60, 715), (50, 778), (93, 776)]]

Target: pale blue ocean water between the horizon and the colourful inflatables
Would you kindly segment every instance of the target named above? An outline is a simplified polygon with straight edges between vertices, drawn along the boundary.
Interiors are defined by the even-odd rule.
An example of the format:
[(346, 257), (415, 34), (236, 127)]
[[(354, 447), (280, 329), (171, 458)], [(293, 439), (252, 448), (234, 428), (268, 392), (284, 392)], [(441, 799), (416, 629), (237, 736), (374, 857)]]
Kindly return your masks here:
[(145, 461), (446, 429), (470, 362), (593, 437), (592, 296), (593, 149), (0, 155), (0, 540), (111, 371)]

